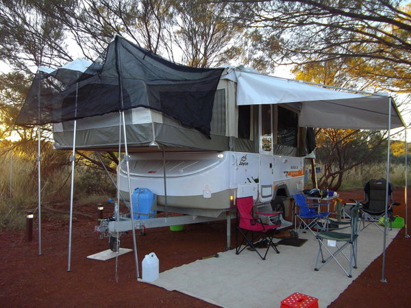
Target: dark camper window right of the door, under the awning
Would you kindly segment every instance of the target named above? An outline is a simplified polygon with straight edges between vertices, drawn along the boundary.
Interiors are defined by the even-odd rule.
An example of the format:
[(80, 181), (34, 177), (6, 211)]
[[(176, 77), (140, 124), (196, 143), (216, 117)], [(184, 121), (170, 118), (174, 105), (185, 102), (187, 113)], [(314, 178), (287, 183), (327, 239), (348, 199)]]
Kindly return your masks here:
[(277, 144), (296, 147), (298, 141), (297, 113), (278, 106), (277, 114)]

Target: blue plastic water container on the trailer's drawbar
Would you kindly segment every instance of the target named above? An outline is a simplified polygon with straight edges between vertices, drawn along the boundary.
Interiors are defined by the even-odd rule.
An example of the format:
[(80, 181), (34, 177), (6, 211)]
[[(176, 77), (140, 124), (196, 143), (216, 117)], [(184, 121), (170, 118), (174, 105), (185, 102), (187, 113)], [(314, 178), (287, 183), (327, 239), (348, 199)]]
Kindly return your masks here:
[(148, 188), (136, 188), (132, 194), (134, 219), (147, 219), (155, 217), (153, 207), (155, 194)]

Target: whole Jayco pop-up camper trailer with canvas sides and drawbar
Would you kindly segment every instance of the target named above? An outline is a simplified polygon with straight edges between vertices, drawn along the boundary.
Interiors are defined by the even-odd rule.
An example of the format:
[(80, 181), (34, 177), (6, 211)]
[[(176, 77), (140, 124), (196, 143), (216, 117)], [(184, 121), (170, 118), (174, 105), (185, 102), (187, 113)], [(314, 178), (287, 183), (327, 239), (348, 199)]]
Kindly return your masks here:
[[(284, 203), (303, 189), (306, 129), (299, 127), (299, 110), (292, 103), (238, 105), (236, 74), (241, 72), (230, 67), (221, 75), (210, 137), (156, 110), (125, 112), (130, 155), (129, 172), (125, 160), (118, 167), (121, 196), (129, 203), (129, 177), (132, 191), (145, 188), (156, 196), (151, 214), (137, 206), (135, 218), (153, 218), (157, 211), (184, 214), (162, 222), (147, 219), (145, 227), (225, 219), (242, 196), (253, 196), (261, 210), (289, 214)], [(116, 113), (77, 120), (76, 148), (118, 151), (119, 123)], [(55, 148), (71, 149), (73, 129), (73, 121), (54, 125)], [(283, 219), (283, 225), (289, 224)], [(125, 219), (120, 229), (112, 222), (99, 231), (113, 234), (130, 226)]]

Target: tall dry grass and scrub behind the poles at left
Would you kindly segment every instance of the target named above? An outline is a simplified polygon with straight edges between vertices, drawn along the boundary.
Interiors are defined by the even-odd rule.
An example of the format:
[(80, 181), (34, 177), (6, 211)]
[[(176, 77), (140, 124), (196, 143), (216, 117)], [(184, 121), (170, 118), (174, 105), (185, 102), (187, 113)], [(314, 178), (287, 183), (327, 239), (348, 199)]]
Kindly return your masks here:
[[(54, 151), (54, 153), (48, 153)], [(41, 201), (44, 204), (69, 203), (71, 166), (66, 153), (56, 153), (45, 149), (42, 157)], [(50, 156), (58, 157), (57, 162), (49, 162)], [(0, 161), (0, 229), (21, 229), (25, 225), (25, 212), (37, 211), (38, 207), (38, 169), (36, 153), (27, 154), (14, 151), (1, 156)], [(105, 172), (77, 166), (75, 168), (75, 203), (91, 205), (105, 203), (112, 191), (110, 180)], [(111, 188), (111, 190), (110, 190)], [(114, 195), (115, 196), (115, 195)], [(113, 197), (113, 195), (111, 196)]]

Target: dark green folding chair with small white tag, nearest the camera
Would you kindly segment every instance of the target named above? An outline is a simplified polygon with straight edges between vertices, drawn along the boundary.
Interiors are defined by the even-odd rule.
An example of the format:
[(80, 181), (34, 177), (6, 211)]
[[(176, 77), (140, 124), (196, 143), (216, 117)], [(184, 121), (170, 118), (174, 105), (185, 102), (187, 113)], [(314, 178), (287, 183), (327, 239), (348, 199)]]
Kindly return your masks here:
[[(356, 201), (355, 201), (356, 202)], [(316, 262), (315, 262), (315, 268), (314, 270), (318, 271), (320, 268), (325, 266), (329, 261), (334, 259), (338, 266), (347, 274), (349, 278), (351, 278), (351, 270), (352, 268), (357, 268), (357, 238), (358, 238), (358, 212), (360, 210), (360, 203), (356, 202), (356, 205), (354, 205), (351, 209), (351, 233), (341, 233), (338, 231), (320, 231), (316, 235), (316, 239), (319, 240), (319, 253), (317, 254)], [(325, 243), (323, 240), (327, 240)], [(342, 244), (342, 246), (339, 246)], [(329, 248), (328, 246), (335, 246), (336, 250), (332, 252), (332, 248)], [(350, 246), (350, 256), (347, 257), (343, 250), (347, 247)], [(329, 253), (329, 257), (327, 259), (324, 259), (323, 255), (323, 248)], [(341, 264), (340, 261), (337, 259), (337, 255), (343, 255), (347, 261), (349, 261), (349, 271), (347, 271)], [(319, 260), (321, 256), (321, 266), (319, 265)]]

